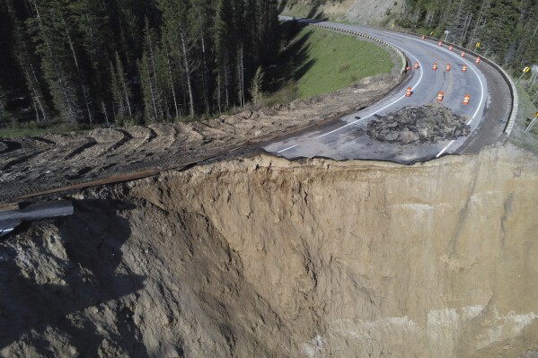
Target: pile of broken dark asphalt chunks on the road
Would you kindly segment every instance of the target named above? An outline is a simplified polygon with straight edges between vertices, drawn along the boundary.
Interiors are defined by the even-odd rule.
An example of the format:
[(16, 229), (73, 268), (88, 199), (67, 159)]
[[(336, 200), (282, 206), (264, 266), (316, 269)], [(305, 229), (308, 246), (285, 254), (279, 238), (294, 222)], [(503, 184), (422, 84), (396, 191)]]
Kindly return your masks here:
[(380, 142), (437, 143), (471, 133), (471, 127), (466, 124), (469, 118), (458, 116), (438, 103), (406, 107), (386, 117), (375, 118), (368, 123), (366, 133)]

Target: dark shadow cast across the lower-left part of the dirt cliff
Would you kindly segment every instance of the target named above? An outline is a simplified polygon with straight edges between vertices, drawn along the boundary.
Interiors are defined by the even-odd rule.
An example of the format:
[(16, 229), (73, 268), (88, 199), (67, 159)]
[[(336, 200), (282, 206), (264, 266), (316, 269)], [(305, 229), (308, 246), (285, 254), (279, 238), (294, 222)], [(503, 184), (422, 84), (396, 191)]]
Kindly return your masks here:
[[(75, 346), (79, 356), (99, 355), (105, 336), (88, 317), (91, 314), (83, 311), (93, 308), (97, 314), (101, 304), (144, 288), (145, 277), (116, 273), (122, 261), (121, 247), (131, 235), (128, 220), (118, 211), (129, 208), (119, 201), (76, 202), (74, 215), (55, 222), (59, 239), (45, 238), (46, 233), (31, 238), (40, 251), (29, 254), (31, 260), (13, 248), (0, 252), (7, 257), (0, 260), (0, 349), (25, 339), (39, 354), (52, 356), (55, 353), (44, 334), (53, 329), (69, 336), (69, 344)], [(51, 240), (62, 240), (62, 244), (51, 244)], [(62, 246), (68, 259), (54, 254), (54, 248)], [(40, 256), (41, 251), (49, 255)], [(56, 272), (46, 276), (35, 267), (40, 260), (56, 261)], [(118, 334), (109, 335), (129, 356), (148, 357), (133, 312), (126, 307), (118, 311), (114, 322)]]

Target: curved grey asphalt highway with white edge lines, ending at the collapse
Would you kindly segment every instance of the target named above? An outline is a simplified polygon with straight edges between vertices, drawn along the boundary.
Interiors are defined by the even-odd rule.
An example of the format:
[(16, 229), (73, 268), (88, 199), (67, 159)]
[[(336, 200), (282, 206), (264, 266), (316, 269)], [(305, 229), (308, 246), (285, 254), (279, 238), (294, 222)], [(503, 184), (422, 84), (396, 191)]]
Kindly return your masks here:
[[(401, 85), (375, 105), (351, 113), (348, 116), (295, 135), (278, 138), (263, 148), (288, 159), (297, 157), (328, 157), (336, 160), (375, 159), (393, 162), (428, 161), (447, 153), (473, 153), (481, 147), (496, 144), (503, 137), (512, 106), (509, 87), (498, 71), (485, 62), (475, 64), (475, 58), (448, 45), (439, 46), (428, 39), (404, 35), (392, 31), (369, 29), (362, 26), (321, 22), (342, 31), (358, 31), (376, 39), (384, 40), (399, 48), (411, 65), (419, 63), (418, 69)], [(359, 38), (360, 39), (360, 38)], [(437, 71), (432, 69), (437, 63)], [(445, 66), (450, 65), (449, 72)], [(467, 71), (462, 72), (463, 65)], [(412, 88), (412, 95), (405, 96), (405, 89)], [(383, 116), (408, 106), (421, 106), (437, 101), (437, 92), (444, 92), (442, 104), (454, 113), (469, 118), (472, 135), (438, 144), (402, 145), (372, 140), (366, 135), (366, 125), (375, 115)], [(463, 97), (471, 100), (463, 105)]]

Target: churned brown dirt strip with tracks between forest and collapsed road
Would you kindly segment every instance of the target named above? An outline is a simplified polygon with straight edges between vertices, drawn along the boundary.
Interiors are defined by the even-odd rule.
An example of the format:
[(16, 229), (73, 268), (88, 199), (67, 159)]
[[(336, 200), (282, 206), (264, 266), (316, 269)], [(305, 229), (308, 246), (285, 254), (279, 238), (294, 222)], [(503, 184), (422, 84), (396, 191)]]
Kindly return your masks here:
[(387, 74), (369, 77), (331, 94), (206, 122), (0, 139), (0, 202), (136, 170), (179, 168), (366, 107), (400, 80)]

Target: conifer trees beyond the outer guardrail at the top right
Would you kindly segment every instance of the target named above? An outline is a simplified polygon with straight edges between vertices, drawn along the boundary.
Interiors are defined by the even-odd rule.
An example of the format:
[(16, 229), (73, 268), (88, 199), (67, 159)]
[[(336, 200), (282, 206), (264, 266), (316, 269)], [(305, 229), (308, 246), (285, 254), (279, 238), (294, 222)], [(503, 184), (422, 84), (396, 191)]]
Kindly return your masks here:
[(401, 25), (437, 28), (437, 36), (501, 65), (538, 63), (538, 0), (404, 0)]

